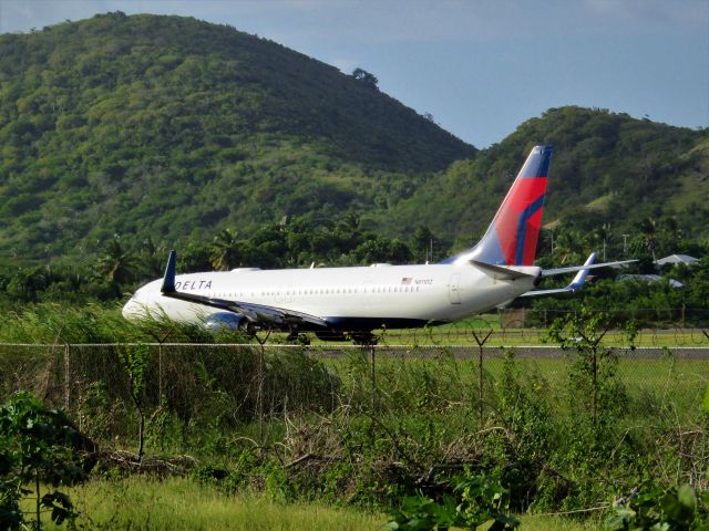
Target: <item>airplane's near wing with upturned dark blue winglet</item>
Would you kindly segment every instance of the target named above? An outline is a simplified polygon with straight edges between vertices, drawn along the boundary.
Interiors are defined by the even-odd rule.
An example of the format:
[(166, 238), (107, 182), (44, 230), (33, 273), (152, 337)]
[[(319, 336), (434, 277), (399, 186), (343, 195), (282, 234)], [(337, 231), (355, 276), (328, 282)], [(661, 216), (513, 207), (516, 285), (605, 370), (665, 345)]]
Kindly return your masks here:
[(219, 310), (226, 310), (234, 313), (240, 313), (250, 321), (260, 321), (273, 324), (299, 324), (311, 323), (319, 326), (329, 327), (328, 322), (316, 315), (308, 313), (296, 312), (294, 310), (287, 310), (284, 308), (269, 306), (266, 304), (254, 304), (250, 302), (229, 301), (227, 299), (217, 299), (214, 296), (198, 295), (196, 293), (185, 293), (175, 289), (175, 262), (177, 253), (173, 250), (169, 251), (169, 259), (167, 260), (167, 267), (165, 268), (165, 277), (163, 278), (163, 285), (161, 287), (161, 293), (164, 296), (171, 299), (178, 299), (181, 301), (193, 302), (195, 304), (203, 304), (205, 306), (218, 308)]

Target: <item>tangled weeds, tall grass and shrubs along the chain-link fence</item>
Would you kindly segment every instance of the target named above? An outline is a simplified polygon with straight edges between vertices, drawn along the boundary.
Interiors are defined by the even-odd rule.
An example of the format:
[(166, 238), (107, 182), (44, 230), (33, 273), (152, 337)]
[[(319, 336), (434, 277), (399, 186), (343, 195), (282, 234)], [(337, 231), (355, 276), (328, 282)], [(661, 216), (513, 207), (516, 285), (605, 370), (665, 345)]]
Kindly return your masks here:
[[(508, 350), (482, 366), (453, 348), (387, 347), (374, 361), (369, 348), (147, 345), (146, 329), (43, 317), (16, 324), (59, 348), (3, 346), (0, 396), (32, 389), (66, 406), (99, 442), (94, 478), (179, 472), (229, 493), (393, 509), (402, 529), (513, 524), (510, 512), (583, 510), (614, 530), (708, 518), (706, 362), (614, 352), (599, 343), (603, 314), (552, 327), (568, 357)], [(137, 343), (64, 347), (86, 333)]]

